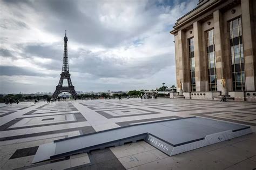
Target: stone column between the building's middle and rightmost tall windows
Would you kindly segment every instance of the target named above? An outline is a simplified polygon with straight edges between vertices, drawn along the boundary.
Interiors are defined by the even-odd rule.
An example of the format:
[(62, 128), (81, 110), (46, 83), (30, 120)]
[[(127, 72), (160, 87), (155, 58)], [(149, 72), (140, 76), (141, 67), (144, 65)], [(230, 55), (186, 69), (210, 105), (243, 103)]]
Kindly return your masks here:
[(213, 12), (213, 21), (214, 21), (217, 91), (222, 91), (223, 87), (221, 85), (221, 79), (224, 76), (224, 78), (227, 80), (227, 77), (223, 74), (223, 65), (224, 65), (223, 54), (224, 53), (223, 53), (223, 41), (221, 40), (221, 37), (223, 36), (221, 35), (222, 25), (221, 25), (221, 13), (219, 10)]

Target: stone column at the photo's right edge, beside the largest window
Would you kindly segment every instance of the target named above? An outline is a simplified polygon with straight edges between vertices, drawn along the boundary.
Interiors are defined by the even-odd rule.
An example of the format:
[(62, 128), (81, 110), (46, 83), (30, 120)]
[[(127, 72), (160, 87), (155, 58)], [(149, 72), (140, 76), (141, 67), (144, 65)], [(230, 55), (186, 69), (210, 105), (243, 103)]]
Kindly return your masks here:
[[(252, 9), (251, 9), (252, 10)], [(254, 9), (255, 10), (255, 9)], [(254, 72), (255, 54), (253, 53), (253, 39), (252, 28), (253, 28), (253, 16), (250, 15), (250, 1), (241, 0), (241, 11), (242, 11), (242, 39), (244, 44), (244, 57), (245, 57), (245, 78), (246, 78), (246, 90), (256, 90), (256, 78)], [(252, 12), (252, 11), (251, 11)], [(255, 20), (254, 20), (255, 22)], [(254, 56), (254, 58), (253, 58)]]

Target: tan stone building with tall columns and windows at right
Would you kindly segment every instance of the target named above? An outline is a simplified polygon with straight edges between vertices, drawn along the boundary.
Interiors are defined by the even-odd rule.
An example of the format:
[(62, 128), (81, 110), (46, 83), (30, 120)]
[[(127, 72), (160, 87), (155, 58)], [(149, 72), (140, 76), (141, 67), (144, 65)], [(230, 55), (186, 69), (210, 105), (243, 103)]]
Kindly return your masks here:
[(217, 98), (224, 78), (231, 98), (256, 101), (255, 0), (199, 0), (170, 33), (185, 98)]

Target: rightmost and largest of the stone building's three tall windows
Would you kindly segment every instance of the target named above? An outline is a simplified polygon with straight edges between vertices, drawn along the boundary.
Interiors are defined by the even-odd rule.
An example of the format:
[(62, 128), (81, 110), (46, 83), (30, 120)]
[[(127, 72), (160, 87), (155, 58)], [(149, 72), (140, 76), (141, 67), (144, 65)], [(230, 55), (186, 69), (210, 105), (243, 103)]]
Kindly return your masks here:
[(245, 90), (245, 61), (241, 17), (230, 22), (230, 50), (233, 91)]

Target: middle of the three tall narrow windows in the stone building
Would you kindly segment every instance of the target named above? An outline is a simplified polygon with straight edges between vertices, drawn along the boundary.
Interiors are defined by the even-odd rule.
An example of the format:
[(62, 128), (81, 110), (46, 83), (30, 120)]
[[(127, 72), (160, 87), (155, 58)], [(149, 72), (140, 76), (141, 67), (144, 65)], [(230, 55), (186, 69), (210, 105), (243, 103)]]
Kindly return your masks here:
[(207, 31), (207, 58), (209, 91), (217, 91), (214, 30)]

